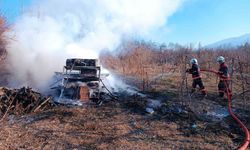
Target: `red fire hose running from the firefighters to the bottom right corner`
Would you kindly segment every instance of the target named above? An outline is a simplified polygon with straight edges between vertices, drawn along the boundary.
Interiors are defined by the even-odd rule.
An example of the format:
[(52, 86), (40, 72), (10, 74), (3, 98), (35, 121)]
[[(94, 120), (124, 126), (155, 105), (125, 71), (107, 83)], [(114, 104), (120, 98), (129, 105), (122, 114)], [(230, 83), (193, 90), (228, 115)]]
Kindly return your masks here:
[[(201, 70), (201, 72), (211, 72), (211, 73), (215, 73), (216, 75), (220, 76), (218, 74), (217, 71), (214, 70)], [(241, 147), (239, 148), (239, 150), (246, 150), (249, 146), (249, 142), (250, 142), (250, 133), (248, 128), (240, 121), (240, 119), (233, 113), (232, 111), (232, 96), (229, 92), (229, 87), (228, 84), (226, 83), (226, 80), (224, 80), (224, 85), (226, 86), (226, 94), (228, 97), (228, 111), (230, 113), (230, 115), (233, 117), (233, 119), (238, 123), (238, 125), (243, 129), (243, 131), (245, 132), (245, 140), (244, 143), (241, 145)], [(231, 91), (232, 92), (232, 91)]]

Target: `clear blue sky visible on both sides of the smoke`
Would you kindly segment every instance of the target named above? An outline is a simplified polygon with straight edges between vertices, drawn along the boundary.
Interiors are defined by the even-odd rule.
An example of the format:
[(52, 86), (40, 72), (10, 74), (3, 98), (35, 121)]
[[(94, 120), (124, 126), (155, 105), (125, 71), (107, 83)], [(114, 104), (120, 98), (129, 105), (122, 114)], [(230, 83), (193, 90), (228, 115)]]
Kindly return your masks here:
[[(14, 23), (32, 1), (0, 0), (1, 12)], [(250, 0), (186, 0), (150, 40), (206, 45), (246, 33), (250, 33)]]

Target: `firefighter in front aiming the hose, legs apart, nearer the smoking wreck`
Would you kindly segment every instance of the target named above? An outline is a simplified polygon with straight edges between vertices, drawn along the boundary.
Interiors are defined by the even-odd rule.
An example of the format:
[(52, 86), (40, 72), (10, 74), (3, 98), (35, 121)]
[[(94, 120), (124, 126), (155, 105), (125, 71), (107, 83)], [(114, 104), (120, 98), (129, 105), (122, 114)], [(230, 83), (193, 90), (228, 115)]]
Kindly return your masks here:
[(206, 89), (203, 85), (203, 82), (201, 80), (201, 76), (200, 76), (200, 67), (198, 65), (198, 61), (195, 58), (192, 58), (190, 60), (190, 64), (192, 65), (192, 67), (190, 69), (187, 69), (186, 72), (192, 74), (192, 78), (193, 78), (193, 83), (192, 83), (192, 90), (191, 93), (195, 92), (196, 86), (199, 85), (200, 87), (200, 91), (201, 93), (206, 96), (207, 92)]

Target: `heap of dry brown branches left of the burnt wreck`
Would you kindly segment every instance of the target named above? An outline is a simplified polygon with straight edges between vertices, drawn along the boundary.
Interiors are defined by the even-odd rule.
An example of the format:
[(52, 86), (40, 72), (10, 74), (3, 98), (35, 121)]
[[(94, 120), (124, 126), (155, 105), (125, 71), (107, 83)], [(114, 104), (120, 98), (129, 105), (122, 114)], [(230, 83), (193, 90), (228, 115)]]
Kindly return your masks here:
[(51, 109), (55, 104), (51, 97), (43, 97), (31, 88), (0, 88), (0, 116), (7, 114), (24, 115)]

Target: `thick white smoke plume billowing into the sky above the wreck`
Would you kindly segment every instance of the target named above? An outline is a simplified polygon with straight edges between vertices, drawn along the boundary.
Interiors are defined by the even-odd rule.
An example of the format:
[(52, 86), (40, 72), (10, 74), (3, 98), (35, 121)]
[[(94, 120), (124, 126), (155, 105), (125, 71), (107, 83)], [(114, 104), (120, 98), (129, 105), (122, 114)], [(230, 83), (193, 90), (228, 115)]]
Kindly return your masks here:
[(43, 0), (17, 20), (9, 36), (14, 86), (44, 88), (66, 58), (98, 58), (124, 37), (148, 36), (183, 0)]

